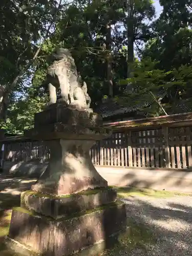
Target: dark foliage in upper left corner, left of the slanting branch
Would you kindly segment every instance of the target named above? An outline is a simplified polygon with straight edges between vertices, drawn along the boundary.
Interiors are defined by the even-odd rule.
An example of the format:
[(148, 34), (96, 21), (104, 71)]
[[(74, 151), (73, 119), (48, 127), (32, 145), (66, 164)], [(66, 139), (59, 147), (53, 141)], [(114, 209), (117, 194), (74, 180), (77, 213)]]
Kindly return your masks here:
[(55, 1), (2, 0), (0, 25), (0, 84), (11, 82), (33, 58), (39, 39), (52, 19)]

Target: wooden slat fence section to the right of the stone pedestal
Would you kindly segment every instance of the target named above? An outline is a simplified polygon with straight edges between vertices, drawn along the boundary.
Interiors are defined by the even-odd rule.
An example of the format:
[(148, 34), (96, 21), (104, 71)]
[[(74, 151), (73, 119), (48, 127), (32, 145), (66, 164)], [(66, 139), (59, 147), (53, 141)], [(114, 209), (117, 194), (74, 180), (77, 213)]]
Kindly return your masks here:
[(192, 167), (192, 127), (115, 133), (91, 149), (95, 165), (186, 169)]

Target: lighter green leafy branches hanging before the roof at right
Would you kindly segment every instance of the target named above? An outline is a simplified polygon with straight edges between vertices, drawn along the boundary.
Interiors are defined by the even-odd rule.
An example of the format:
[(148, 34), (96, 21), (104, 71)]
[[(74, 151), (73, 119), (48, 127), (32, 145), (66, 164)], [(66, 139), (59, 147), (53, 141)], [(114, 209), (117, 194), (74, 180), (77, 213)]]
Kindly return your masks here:
[(189, 100), (192, 66), (182, 65), (167, 72), (157, 66), (158, 63), (150, 59), (136, 62), (133, 77), (120, 80), (121, 85), (129, 86), (116, 101), (127, 106), (138, 105), (147, 115), (159, 116), (170, 109), (170, 101), (163, 102), (168, 93), (177, 92), (179, 97), (174, 99), (175, 103), (181, 99)]

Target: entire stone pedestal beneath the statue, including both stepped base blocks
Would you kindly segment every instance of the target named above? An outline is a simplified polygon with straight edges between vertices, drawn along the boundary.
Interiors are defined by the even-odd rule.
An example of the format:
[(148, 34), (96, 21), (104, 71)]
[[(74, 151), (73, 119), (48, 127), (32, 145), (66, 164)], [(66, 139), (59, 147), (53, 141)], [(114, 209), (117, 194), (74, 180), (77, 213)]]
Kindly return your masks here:
[(9, 239), (42, 255), (62, 256), (106, 242), (125, 228), (124, 204), (89, 155), (96, 140), (110, 135), (101, 121), (90, 110), (59, 103), (35, 115), (26, 136), (46, 143), (50, 161), (13, 210)]

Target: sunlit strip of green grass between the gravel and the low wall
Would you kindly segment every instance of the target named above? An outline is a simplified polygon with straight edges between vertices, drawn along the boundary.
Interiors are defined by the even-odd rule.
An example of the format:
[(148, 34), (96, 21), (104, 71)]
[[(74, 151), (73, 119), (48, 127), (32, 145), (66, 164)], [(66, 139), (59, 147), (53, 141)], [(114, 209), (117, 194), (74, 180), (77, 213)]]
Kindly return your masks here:
[(115, 187), (119, 198), (127, 197), (153, 197), (153, 198), (169, 198), (174, 196), (192, 196), (189, 193), (179, 193), (176, 191), (154, 190), (148, 188), (135, 187)]

